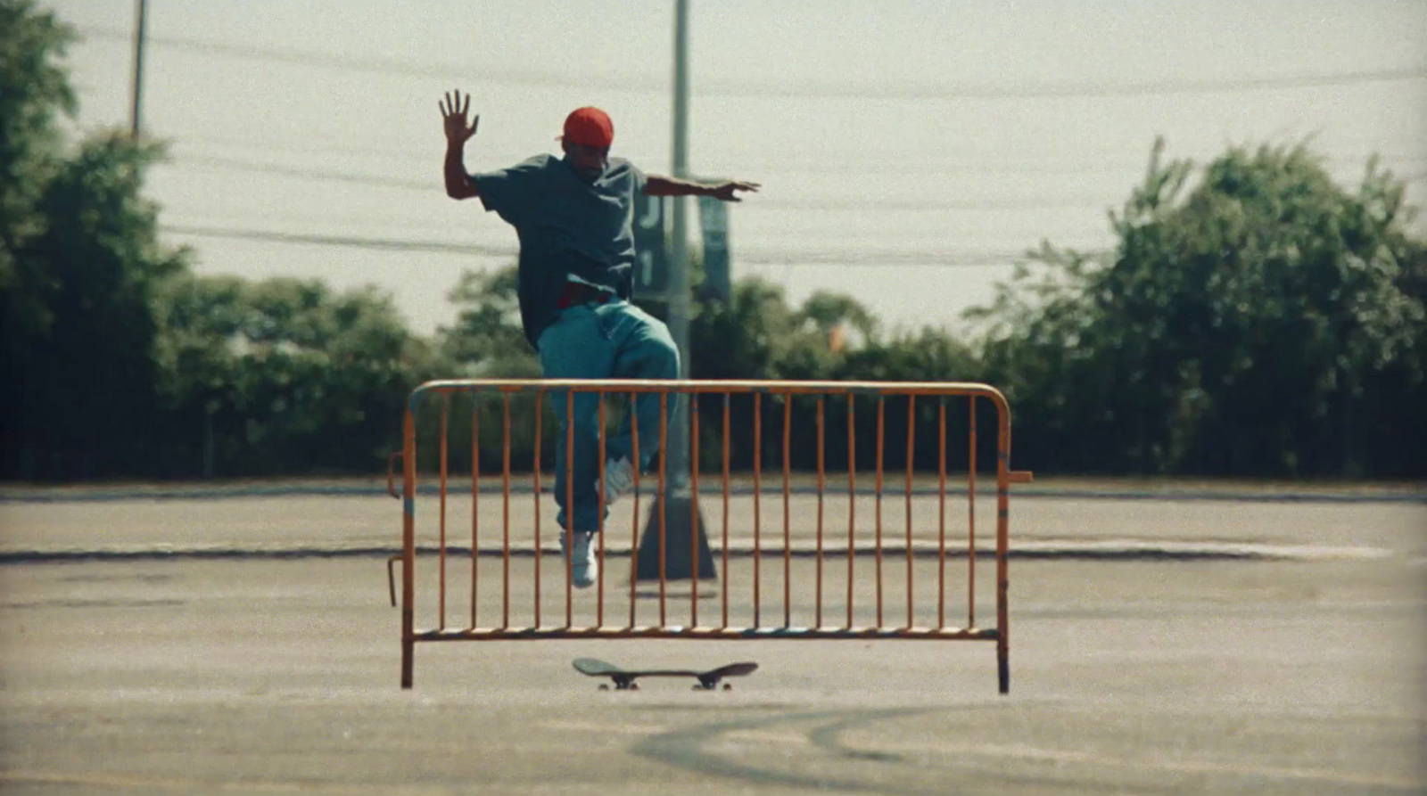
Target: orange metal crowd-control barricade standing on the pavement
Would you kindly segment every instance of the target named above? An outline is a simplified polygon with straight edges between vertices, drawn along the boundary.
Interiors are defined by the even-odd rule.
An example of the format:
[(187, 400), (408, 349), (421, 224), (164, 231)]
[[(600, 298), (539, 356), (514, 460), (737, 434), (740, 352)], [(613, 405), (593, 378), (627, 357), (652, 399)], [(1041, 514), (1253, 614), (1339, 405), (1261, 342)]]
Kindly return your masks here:
[[(659, 401), (659, 428), (641, 429), (631, 417), (631, 432), (638, 449), (639, 435), (658, 434), (659, 452), (666, 449), (668, 419), (674, 411), (671, 397), (681, 397), (689, 407), (689, 454), (694, 466), (689, 468), (689, 482), (678, 492), (686, 495), (689, 504), (689, 548), (692, 551), (692, 572), (699, 572), (701, 545), (716, 551), (714, 595), (716, 611), (701, 613), (701, 599), (715, 599), (701, 592), (696, 578), (689, 582), (688, 603), (684, 595), (671, 595), (671, 579), (665, 563), (669, 548), (669, 522), (665, 502), (675, 495), (662, 455), (656, 466), (646, 474), (635, 474), (634, 494), (625, 506), (606, 506), (604, 489), (598, 489), (601, 514), (615, 509), (601, 521), (596, 536), (596, 558), (601, 562), (594, 588), (579, 591), (572, 588), (568, 562), (561, 556), (559, 538), (568, 529), (542, 532), (542, 502), (549, 499), (544, 486), (542, 466), (544, 444), (547, 441), (547, 401), (564, 401), (567, 417), (574, 414), (577, 394), (598, 395), (598, 475), (604, 481), (606, 442), (606, 404), (614, 399), (656, 394)], [(652, 397), (652, 395), (651, 395)], [(701, 398), (716, 402), (722, 397), (721, 412), (711, 424), (701, 419)], [(468, 414), (454, 414), (454, 399), (468, 405)], [(515, 466), (512, 448), (515, 437), (522, 434), (522, 425), (514, 422), (512, 401), (532, 399), (529, 418), (529, 448), (534, 459), (528, 472)], [(751, 418), (735, 424), (731, 405), (735, 399), (746, 402)], [(763, 501), (766, 499), (763, 459), (765, 449), (765, 404), (782, 401), (781, 418), (773, 414), (773, 422), (781, 425), (773, 437), (781, 462), (779, 528), (765, 534)], [(809, 408), (812, 418), (793, 414), (795, 401)], [(845, 491), (829, 491), (826, 459), (829, 456), (828, 425), (835, 421), (826, 405), (833, 401), (846, 404), (846, 449), (839, 451), (846, 459)], [(958, 495), (948, 484), (955, 472), (948, 465), (949, 437), (956, 432), (948, 425), (948, 404), (966, 404), (968, 427), (965, 489)], [(996, 534), (992, 551), (977, 548), (976, 536), (976, 475), (977, 434), (976, 404), (989, 401), (996, 409)], [(812, 402), (815, 408), (808, 407)], [(875, 439), (876, 449), (866, 455), (858, 451), (859, 402), (876, 405)], [(494, 404), (495, 411), (491, 409)], [(886, 417), (889, 404), (905, 405), (906, 445), (896, 452), (895, 431), (889, 435)], [(432, 405), (437, 417), (430, 422)], [(923, 412), (919, 428), (918, 408)], [(626, 409), (632, 414), (632, 409)], [(489, 418), (485, 415), (497, 415)], [(499, 421), (499, 448), (491, 451), (494, 439), (482, 427)], [(868, 421), (865, 421), (868, 422)], [(451, 438), (459, 428), (469, 425), (469, 451), (457, 452), (464, 459), (452, 462)], [(808, 424), (816, 429), (816, 472), (793, 472), (792, 452), (796, 427)], [(434, 425), (434, 429), (431, 428)], [(701, 437), (711, 427), (716, 437), (719, 454), (716, 464), (701, 462)], [(435, 434), (435, 439), (430, 437)], [(571, 502), (574, 486), (574, 427), (557, 429), (565, 434), (567, 456), (557, 461), (557, 468), (567, 468), (567, 504)], [(918, 441), (935, 434), (936, 454), (918, 458)], [(751, 437), (751, 439), (749, 439)], [(465, 435), (461, 435), (465, 439)], [(482, 438), (487, 447), (482, 448)], [(751, 454), (751, 485), (748, 476), (735, 476), (731, 471), (732, 442), (748, 441)], [(903, 499), (902, 534), (888, 534), (883, 522), (885, 492), (896, 475), (886, 472), (888, 447), (905, 458), (905, 484), (896, 492)], [(435, 461), (428, 462), (434, 451)], [(487, 459), (499, 461), (499, 489), (482, 486), (482, 475), (494, 481), (492, 472), (482, 472), (482, 451)], [(859, 455), (860, 454), (860, 455)], [(935, 465), (926, 465), (928, 458)], [(392, 465), (398, 455), (392, 455)], [(462, 379), (432, 381), (422, 384), (408, 401), (402, 422), (402, 552), (392, 561), (401, 561), (401, 686), (412, 686), (414, 653), (418, 642), (434, 641), (515, 641), (515, 639), (936, 639), (936, 641), (992, 641), (996, 642), (997, 680), (1002, 693), (1009, 692), (1009, 626), (1007, 626), (1007, 536), (1009, 536), (1009, 494), (1010, 485), (1030, 481), (1030, 474), (1010, 469), (1010, 411), (1005, 397), (993, 387), (960, 382), (801, 382), (801, 381), (551, 381), (551, 379)], [(859, 491), (859, 462), (873, 465), (873, 489)], [(918, 475), (916, 462), (923, 462), (923, 474)], [(435, 479), (434, 488), (421, 488), (421, 471)], [(488, 468), (489, 469), (489, 468)], [(709, 476), (704, 471), (716, 471), (718, 499), (704, 499), (714, 489), (705, 489)], [(469, 491), (459, 499), (452, 495), (457, 478), (469, 478)], [(388, 491), (394, 495), (394, 485)], [(654, 479), (652, 495), (649, 481)], [(528, 484), (528, 489), (521, 484)], [(863, 481), (865, 482), (865, 481)], [(464, 489), (464, 488), (462, 488)], [(829, 515), (839, 511), (836, 502), (828, 498), (846, 498), (846, 545), (839, 548), (825, 534)], [(893, 498), (895, 499), (895, 498)], [(418, 528), (418, 504), (435, 501), (435, 528)], [(521, 515), (515, 501), (529, 501), (529, 511)], [(654, 506), (648, 506), (648, 501)], [(948, 542), (948, 505), (963, 501), (966, 505), (966, 544)], [(863, 505), (870, 504), (870, 505)], [(648, 525), (641, 528), (641, 508), (652, 508)], [(552, 506), (544, 506), (551, 511)], [(865, 512), (870, 508), (870, 522)], [(492, 521), (491, 511), (499, 511)], [(862, 509), (862, 515), (859, 515)], [(704, 512), (716, 514), (718, 521), (704, 519)], [(918, 518), (918, 514), (922, 514)], [(422, 511), (422, 516), (425, 512)], [(736, 521), (735, 521), (736, 518)], [(452, 529), (468, 524), (469, 541), (457, 539)], [(751, 519), (751, 521), (749, 521)], [(619, 525), (628, 522), (629, 546), (625, 548)], [(491, 531), (491, 529), (495, 531)], [(731, 535), (731, 528), (736, 536)], [(482, 536), (482, 531), (485, 535)], [(641, 531), (655, 534), (658, 542), (658, 591), (641, 591), (635, 578), (635, 551), (641, 545)], [(495, 538), (492, 538), (495, 536)], [(952, 536), (955, 539), (955, 536)], [(675, 539), (682, 544), (682, 539)], [(431, 544), (434, 542), (434, 545)], [(900, 555), (898, 555), (900, 553)], [(976, 615), (977, 555), (995, 555), (995, 581), (980, 583), (995, 602), (995, 625), (979, 626)], [(542, 569), (547, 556), (559, 566)], [(765, 568), (765, 558), (776, 556), (778, 565)], [(845, 573), (839, 566), (828, 566), (829, 561), (845, 556)], [(890, 556), (890, 558), (889, 558)], [(965, 626), (948, 626), (948, 603), (956, 599), (948, 588), (952, 575), (948, 561), (965, 556)], [(628, 588), (614, 585), (612, 565), (629, 559)], [(870, 562), (859, 566), (859, 558)], [(898, 558), (902, 561), (899, 562)], [(524, 565), (529, 559), (529, 566)], [(796, 565), (795, 565), (796, 559)], [(452, 566), (459, 561), (459, 566)], [(889, 563), (890, 561), (890, 563)], [(811, 562), (811, 563), (809, 563)], [(388, 562), (388, 575), (390, 575)], [(418, 572), (418, 563), (431, 568)], [(870, 572), (868, 568), (870, 563)], [(422, 592), (425, 605), (434, 616), (424, 626), (418, 619), (418, 581), (431, 582), (434, 592)], [(841, 582), (839, 582), (841, 581)], [(888, 613), (888, 583), (902, 582), (906, 595), (906, 615), (892, 618)], [(652, 582), (652, 579), (651, 579)], [(841, 588), (839, 588), (841, 586)], [(920, 586), (920, 588), (919, 588)], [(652, 586), (651, 586), (652, 589)], [(893, 592), (895, 593), (895, 592)], [(392, 588), (392, 596), (395, 591)], [(465, 606), (459, 611), (459, 626), (451, 626), (452, 609), (448, 596), (469, 598), (468, 616)], [(763, 612), (765, 601), (781, 596), (781, 611), (771, 616)], [(920, 602), (918, 598), (920, 596)], [(983, 595), (985, 596), (985, 595)], [(482, 601), (498, 601), (488, 605)], [(678, 601), (678, 602), (675, 602)], [(832, 601), (832, 605), (828, 603)], [(870, 601), (870, 606), (866, 605)], [(434, 606), (430, 605), (434, 602)], [(656, 602), (656, 609), (649, 606)], [(929, 603), (935, 602), (935, 608)], [(622, 603), (622, 605), (616, 605)], [(644, 603), (644, 605), (641, 605)], [(514, 605), (514, 611), (512, 611)], [(624, 608), (624, 611), (612, 611)], [(826, 611), (826, 609), (833, 611)], [(551, 611), (554, 609), (554, 611)], [(606, 611), (608, 609), (608, 611)], [(841, 609), (841, 611), (836, 611)], [(892, 608), (896, 612), (896, 608)], [(557, 622), (549, 616), (559, 613)], [(614, 619), (614, 616), (619, 619)], [(843, 622), (831, 619), (841, 616)], [(935, 621), (932, 619), (935, 616)], [(922, 622), (919, 622), (922, 619)], [(482, 623), (484, 621), (484, 623)]]

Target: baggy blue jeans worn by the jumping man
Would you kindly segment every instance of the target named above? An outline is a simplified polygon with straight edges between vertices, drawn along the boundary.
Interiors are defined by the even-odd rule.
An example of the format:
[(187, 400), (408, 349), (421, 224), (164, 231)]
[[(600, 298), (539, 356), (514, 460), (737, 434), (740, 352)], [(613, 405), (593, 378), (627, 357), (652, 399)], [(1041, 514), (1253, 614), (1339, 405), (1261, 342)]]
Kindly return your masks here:
[[(539, 335), (539, 364), (545, 378), (679, 378), (679, 349), (658, 318), (628, 301), (577, 304), (561, 310), (554, 324)], [(678, 397), (671, 395), (666, 418), (674, 417)], [(565, 417), (569, 395), (551, 392), (551, 408), (559, 419), (555, 448), (555, 522), (574, 531), (599, 529), (599, 395), (577, 392), (574, 417)], [(634, 456), (629, 417), (638, 415), (639, 455)], [(574, 525), (565, 524), (568, 424), (574, 425)], [(642, 472), (659, 449), (659, 395), (639, 394), (625, 412), (614, 437), (605, 441), (608, 459), (628, 458)], [(608, 514), (608, 511), (606, 511)]]

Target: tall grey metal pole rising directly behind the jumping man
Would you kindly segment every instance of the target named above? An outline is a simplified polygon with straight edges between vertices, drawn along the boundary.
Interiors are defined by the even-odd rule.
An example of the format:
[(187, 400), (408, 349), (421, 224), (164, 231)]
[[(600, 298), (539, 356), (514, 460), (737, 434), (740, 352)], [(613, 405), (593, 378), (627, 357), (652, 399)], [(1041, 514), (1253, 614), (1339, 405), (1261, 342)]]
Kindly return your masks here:
[[(689, 177), (689, 0), (678, 0), (674, 26), (674, 177)], [(688, 221), (684, 197), (674, 197), (674, 235), (669, 252), (669, 334), (679, 349), (679, 378), (689, 378)], [(692, 399), (692, 397), (688, 397)], [(669, 472), (682, 489), (689, 474), (688, 399), (669, 418)]]

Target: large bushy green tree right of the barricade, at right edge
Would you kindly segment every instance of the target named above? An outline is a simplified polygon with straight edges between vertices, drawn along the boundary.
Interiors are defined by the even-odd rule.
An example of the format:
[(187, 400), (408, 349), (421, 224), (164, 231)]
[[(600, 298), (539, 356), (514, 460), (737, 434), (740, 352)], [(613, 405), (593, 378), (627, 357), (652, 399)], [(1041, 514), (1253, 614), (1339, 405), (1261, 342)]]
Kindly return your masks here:
[[(1187, 190), (1193, 164), (1162, 148), (1107, 260), (1046, 245), (975, 314), (1026, 437), (1069, 469), (1367, 472), (1421, 405), (1424, 244), (1401, 183), (1370, 163), (1350, 193), (1306, 147), (1264, 146)], [(1387, 374), (1408, 394), (1371, 392)]]

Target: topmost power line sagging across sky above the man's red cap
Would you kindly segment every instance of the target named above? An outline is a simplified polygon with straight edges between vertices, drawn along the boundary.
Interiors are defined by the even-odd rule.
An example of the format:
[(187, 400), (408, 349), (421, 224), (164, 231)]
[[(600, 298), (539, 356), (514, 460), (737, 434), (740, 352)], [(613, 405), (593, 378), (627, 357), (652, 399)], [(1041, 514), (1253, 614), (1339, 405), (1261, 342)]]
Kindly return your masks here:
[[(91, 26), (78, 30), (96, 39), (128, 41), (128, 34)], [(225, 44), (187, 37), (150, 36), (151, 44), (190, 50), (204, 56), (230, 56), (237, 58), (318, 66), (347, 71), (368, 71), (378, 74), (405, 74), (410, 77), (469, 78), (472, 66), (418, 64), (395, 58), (354, 58), (332, 54), (318, 54), (301, 50), (255, 47), (247, 44)], [(606, 90), (665, 91), (662, 80), (648, 80), (632, 76), (581, 77), (572, 78), (549, 73), (492, 70), (481, 64), (479, 80), (488, 83), (511, 83), (521, 86), (578, 86)], [(783, 86), (766, 83), (709, 83), (695, 88), (704, 97), (825, 97), (825, 98), (903, 98), (903, 100), (1037, 100), (1037, 98), (1097, 98), (1136, 97), (1167, 94), (1222, 94), (1241, 91), (1317, 88), (1333, 86), (1356, 86), (1363, 83), (1390, 83), (1427, 78), (1427, 64), (1400, 68), (1361, 71), (1336, 71), (1319, 74), (1294, 74), (1256, 78), (1220, 80), (1160, 80), (1123, 84), (1104, 83), (1062, 83), (1023, 84), (1013, 87), (970, 86), (953, 83), (906, 83), (899, 86), (858, 86), (823, 81), (801, 81)]]

